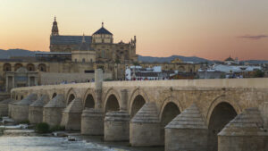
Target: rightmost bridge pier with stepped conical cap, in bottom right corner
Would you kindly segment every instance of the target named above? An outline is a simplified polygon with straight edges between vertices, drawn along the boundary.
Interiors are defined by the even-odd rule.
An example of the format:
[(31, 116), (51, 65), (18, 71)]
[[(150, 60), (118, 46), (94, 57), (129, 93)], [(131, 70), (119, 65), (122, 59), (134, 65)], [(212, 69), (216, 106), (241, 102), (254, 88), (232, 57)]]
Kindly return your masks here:
[(218, 134), (218, 151), (267, 151), (268, 132), (259, 110), (247, 108)]

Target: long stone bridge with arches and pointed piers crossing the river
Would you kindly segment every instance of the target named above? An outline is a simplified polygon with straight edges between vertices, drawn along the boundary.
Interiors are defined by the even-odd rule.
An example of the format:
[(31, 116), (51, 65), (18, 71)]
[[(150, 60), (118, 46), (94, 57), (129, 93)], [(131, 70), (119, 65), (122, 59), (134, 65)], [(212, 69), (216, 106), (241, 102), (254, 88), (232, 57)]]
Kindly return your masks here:
[(103, 81), (13, 88), (9, 115), (165, 150), (268, 150), (268, 79)]

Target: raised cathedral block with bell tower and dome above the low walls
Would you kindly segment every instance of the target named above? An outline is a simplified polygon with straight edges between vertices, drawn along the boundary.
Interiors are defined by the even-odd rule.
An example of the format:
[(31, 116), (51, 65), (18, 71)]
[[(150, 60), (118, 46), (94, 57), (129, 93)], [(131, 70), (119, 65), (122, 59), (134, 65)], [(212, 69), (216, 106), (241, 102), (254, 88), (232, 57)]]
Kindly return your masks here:
[[(113, 33), (105, 29), (104, 23), (92, 36), (63, 36), (59, 34), (57, 21), (54, 19), (50, 36), (50, 52), (76, 54), (73, 55), (73, 61), (75, 59), (97, 63), (131, 63), (138, 61), (136, 36), (129, 43), (122, 41), (113, 43)], [(94, 55), (96, 59), (93, 59)]]

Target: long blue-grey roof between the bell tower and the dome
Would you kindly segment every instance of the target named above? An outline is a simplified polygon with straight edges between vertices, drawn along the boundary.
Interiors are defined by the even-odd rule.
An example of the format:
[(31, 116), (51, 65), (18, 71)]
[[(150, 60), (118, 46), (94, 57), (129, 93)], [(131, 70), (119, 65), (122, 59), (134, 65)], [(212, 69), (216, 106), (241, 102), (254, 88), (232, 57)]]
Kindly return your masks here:
[[(50, 45), (77, 45), (80, 46), (83, 36), (51, 36)], [(91, 36), (85, 36), (88, 46), (91, 44)]]

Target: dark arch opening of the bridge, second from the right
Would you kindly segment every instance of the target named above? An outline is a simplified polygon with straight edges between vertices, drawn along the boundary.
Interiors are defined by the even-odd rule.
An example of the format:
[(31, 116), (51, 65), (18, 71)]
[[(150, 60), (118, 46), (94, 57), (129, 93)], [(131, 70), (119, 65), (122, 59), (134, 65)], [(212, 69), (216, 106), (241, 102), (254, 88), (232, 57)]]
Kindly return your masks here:
[[(169, 98), (170, 99), (170, 98)], [(173, 101), (165, 101), (162, 111), (160, 113), (160, 124), (161, 124), (161, 139), (164, 144), (164, 127), (180, 114), (180, 107)]]

